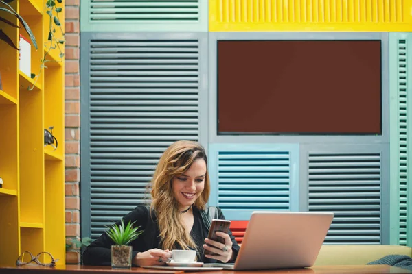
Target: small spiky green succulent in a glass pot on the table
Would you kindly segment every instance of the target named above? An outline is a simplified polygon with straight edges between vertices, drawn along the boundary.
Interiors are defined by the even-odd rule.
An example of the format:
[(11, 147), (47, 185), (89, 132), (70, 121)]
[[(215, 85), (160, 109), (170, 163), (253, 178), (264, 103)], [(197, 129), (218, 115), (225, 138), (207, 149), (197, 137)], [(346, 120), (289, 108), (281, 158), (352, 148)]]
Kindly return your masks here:
[(132, 267), (132, 247), (128, 244), (136, 240), (143, 231), (140, 227), (134, 227), (133, 223), (128, 222), (124, 227), (123, 220), (120, 225), (113, 225), (106, 232), (113, 240), (115, 245), (111, 246), (111, 265), (113, 269), (130, 269)]

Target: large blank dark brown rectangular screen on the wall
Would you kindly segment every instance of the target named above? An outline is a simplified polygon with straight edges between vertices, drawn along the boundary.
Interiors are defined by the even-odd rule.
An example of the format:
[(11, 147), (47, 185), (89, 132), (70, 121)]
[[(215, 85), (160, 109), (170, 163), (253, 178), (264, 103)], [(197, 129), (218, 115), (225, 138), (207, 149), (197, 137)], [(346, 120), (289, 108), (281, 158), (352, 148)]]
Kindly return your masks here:
[(380, 40), (218, 41), (218, 134), (381, 134)]

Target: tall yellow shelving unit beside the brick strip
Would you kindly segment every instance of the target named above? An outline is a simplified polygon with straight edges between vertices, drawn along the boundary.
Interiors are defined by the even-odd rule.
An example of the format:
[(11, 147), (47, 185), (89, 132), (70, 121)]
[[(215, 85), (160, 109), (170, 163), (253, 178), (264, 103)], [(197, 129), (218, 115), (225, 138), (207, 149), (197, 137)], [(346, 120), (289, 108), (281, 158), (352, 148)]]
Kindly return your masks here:
[[(49, 15), (44, 0), (15, 0), (14, 10), (32, 29), (38, 50), (32, 46), (32, 73), (36, 82), (19, 69), (19, 51), (0, 41), (0, 265), (14, 265), (23, 251), (52, 253), (57, 264), (65, 264), (65, 140), (64, 140), (64, 60), (60, 51), (49, 52), (47, 68), (41, 69), (49, 34)], [(64, 27), (65, 14), (60, 12)], [(19, 25), (18, 20), (2, 12)], [(0, 29), (14, 45), (25, 29), (0, 21)], [(62, 37), (56, 28), (54, 33)], [(60, 45), (64, 49), (64, 45)], [(32, 90), (29, 87), (34, 86)], [(44, 129), (53, 126), (58, 148), (43, 145)]]

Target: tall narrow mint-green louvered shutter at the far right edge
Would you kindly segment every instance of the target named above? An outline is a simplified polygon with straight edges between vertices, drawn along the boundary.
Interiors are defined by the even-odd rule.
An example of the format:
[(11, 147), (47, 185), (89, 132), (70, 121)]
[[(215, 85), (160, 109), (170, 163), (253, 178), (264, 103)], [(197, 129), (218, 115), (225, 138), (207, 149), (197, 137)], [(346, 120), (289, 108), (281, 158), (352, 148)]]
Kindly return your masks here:
[(389, 36), (391, 244), (412, 245), (412, 35)]

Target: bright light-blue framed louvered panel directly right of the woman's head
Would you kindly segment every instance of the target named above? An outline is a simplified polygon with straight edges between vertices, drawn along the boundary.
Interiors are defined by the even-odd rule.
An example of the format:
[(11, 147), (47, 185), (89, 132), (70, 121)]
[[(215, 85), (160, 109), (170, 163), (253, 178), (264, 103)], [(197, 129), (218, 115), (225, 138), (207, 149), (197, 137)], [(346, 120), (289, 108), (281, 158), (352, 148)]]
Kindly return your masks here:
[(298, 145), (209, 144), (211, 196), (226, 219), (297, 210)]

